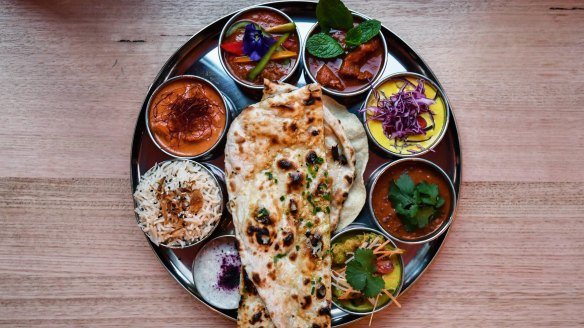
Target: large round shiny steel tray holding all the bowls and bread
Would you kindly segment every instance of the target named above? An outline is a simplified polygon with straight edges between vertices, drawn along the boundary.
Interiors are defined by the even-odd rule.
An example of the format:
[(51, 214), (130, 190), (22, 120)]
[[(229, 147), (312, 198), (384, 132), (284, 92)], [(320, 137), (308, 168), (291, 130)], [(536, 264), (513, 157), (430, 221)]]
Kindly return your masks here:
[[(268, 2), (262, 4), (283, 11), (288, 14), (297, 24), (300, 31), (300, 37), (304, 39), (310, 27), (316, 22), (315, 17), (315, 2), (308, 1), (284, 1), (284, 2)], [(256, 103), (257, 99), (250, 97), (245, 91), (239, 89), (237, 84), (225, 73), (219, 58), (218, 40), (221, 29), (226, 24), (231, 16), (235, 13), (229, 14), (219, 20), (211, 23), (201, 31), (193, 35), (184, 45), (182, 45), (164, 64), (156, 79), (150, 85), (148, 93), (142, 105), (138, 120), (136, 123), (132, 154), (131, 154), (131, 181), (132, 192), (136, 190), (136, 186), (140, 181), (140, 176), (148, 169), (154, 166), (157, 162), (168, 160), (171, 157), (160, 151), (148, 136), (147, 127), (145, 124), (145, 112), (147, 110), (148, 100), (155, 89), (164, 81), (178, 76), (178, 75), (197, 75), (203, 77), (214, 83), (223, 95), (231, 102), (232, 117), (245, 107), (252, 103)], [(382, 27), (381, 32), (387, 42), (388, 56), (387, 64), (382, 73), (382, 78), (390, 74), (398, 72), (412, 72), (425, 75), (427, 78), (435, 82), (441, 87), (440, 82), (422, 60), (422, 58), (396, 34), (386, 27)], [(306, 84), (304, 74), (300, 74), (297, 82), (298, 86)], [(447, 96), (444, 93), (444, 98), (448, 102)], [(362, 106), (365, 96), (362, 96), (358, 101), (353, 101), (347, 107), (349, 111), (357, 114), (358, 109)], [(450, 107), (450, 119), (446, 134), (440, 144), (434, 148), (434, 151), (428, 152), (419, 156), (437, 164), (450, 177), (454, 184), (457, 200), (461, 184), (461, 149), (458, 138), (458, 131), (456, 122)], [(358, 115), (361, 117), (361, 115)], [(387, 155), (377, 153), (370, 147), (369, 162), (367, 164), (364, 180), (367, 181), (370, 175), (384, 163), (393, 161)], [(222, 154), (211, 158), (208, 161), (201, 162), (209, 168), (218, 178), (219, 182), (224, 185), (225, 175), (223, 172), (224, 157)], [(224, 190), (225, 192), (225, 190)], [(225, 197), (227, 199), (227, 197)], [(378, 229), (373, 223), (373, 218), (368, 210), (368, 205), (365, 204), (358, 218), (353, 225), (365, 225), (373, 229)], [(224, 219), (222, 225), (215, 230), (211, 240), (214, 236), (233, 233), (233, 225), (230, 218)], [(406, 250), (404, 255), (404, 281), (401, 294), (405, 293), (425, 272), (425, 270), (432, 263), (438, 254), (448, 231), (440, 237), (423, 244), (405, 245), (397, 243), (397, 246)], [(162, 265), (168, 270), (171, 276), (185, 288), (193, 297), (200, 302), (206, 304), (212, 310), (231, 319), (237, 318), (237, 310), (223, 310), (215, 308), (207, 303), (197, 291), (192, 275), (192, 263), (197, 253), (197, 250), (202, 245), (186, 248), (186, 249), (170, 249), (153, 244), (148, 238), (148, 243), (156, 256), (160, 259)], [(333, 305), (332, 311), (332, 326), (341, 326), (350, 322), (363, 318), (363, 316), (350, 314), (341, 311)]]

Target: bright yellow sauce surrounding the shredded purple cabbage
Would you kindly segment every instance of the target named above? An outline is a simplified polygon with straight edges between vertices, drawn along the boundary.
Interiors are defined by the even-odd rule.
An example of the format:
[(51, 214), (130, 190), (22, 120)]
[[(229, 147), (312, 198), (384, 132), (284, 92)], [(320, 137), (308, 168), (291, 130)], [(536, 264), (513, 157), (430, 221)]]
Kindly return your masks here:
[[(408, 77), (407, 78), (410, 82), (417, 84), (417, 79), (416, 78), (411, 78)], [(377, 90), (379, 91), (383, 91), (383, 93), (385, 93), (386, 96), (390, 96), (394, 93), (397, 93), (399, 91), (399, 89), (401, 88), (401, 86), (403, 86), (404, 82), (400, 81), (399, 79), (392, 79), (389, 81), (386, 81), (385, 83), (383, 83), (379, 88), (377, 88)], [(406, 90), (413, 90), (414, 88), (412, 86), (409, 86), (406, 88)], [(430, 99), (434, 99), (434, 97), (436, 96), (436, 88), (434, 88), (430, 83), (425, 83), (424, 84), (424, 94), (426, 95), (427, 98)], [(373, 97), (373, 95), (371, 95), (368, 99), (367, 99), (367, 106), (374, 106), (376, 105), (376, 100), (375, 97)], [(410, 140), (410, 142), (408, 142), (409, 145), (404, 146), (404, 142), (398, 140), (397, 142), (395, 142), (394, 139), (389, 139), (388, 137), (385, 136), (385, 134), (383, 133), (383, 127), (381, 126), (381, 122), (380, 121), (374, 121), (374, 120), (369, 120), (367, 121), (367, 127), (369, 128), (369, 132), (371, 133), (371, 136), (375, 139), (375, 141), (377, 141), (377, 143), (387, 149), (389, 152), (397, 154), (397, 155), (412, 155), (411, 151), (414, 152), (420, 152), (420, 148), (417, 147), (417, 145), (420, 145), (421, 147), (425, 148), (425, 149), (430, 149), (432, 148), (437, 142), (438, 139), (440, 138), (440, 136), (442, 135), (443, 130), (446, 129), (446, 105), (444, 103), (444, 99), (442, 99), (442, 97), (438, 96), (438, 98), (436, 99), (436, 103), (433, 105), (430, 105), (430, 109), (432, 110), (432, 112), (434, 112), (434, 127), (429, 129), (428, 131), (426, 131), (426, 134), (423, 135), (416, 135), (416, 136), (410, 136), (408, 137), (408, 140)], [(367, 118), (369, 118), (369, 112), (367, 113)], [(422, 118), (424, 120), (426, 120), (426, 122), (428, 122), (428, 124), (431, 124), (431, 119), (430, 119), (430, 114), (428, 113), (424, 113), (422, 114)], [(420, 142), (411, 142), (411, 141), (416, 141), (416, 140), (423, 140)]]

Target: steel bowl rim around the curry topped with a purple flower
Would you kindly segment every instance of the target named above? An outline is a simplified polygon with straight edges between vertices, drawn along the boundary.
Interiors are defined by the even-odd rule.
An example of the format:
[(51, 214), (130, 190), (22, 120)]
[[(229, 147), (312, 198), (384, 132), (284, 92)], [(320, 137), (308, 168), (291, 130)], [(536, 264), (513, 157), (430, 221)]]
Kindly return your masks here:
[[(247, 7), (242, 9), (241, 11), (239, 11), (238, 13), (236, 13), (235, 15), (233, 15), (225, 24), (225, 26), (223, 27), (223, 29), (221, 30), (221, 34), (219, 35), (219, 46), (217, 47), (218, 51), (219, 51), (219, 59), (221, 62), (221, 66), (223, 67), (223, 70), (227, 73), (227, 75), (229, 75), (229, 77), (231, 77), (231, 79), (233, 79), (233, 81), (235, 81), (235, 83), (237, 83), (237, 85), (241, 88), (243, 88), (244, 90), (248, 90), (251, 92), (261, 92), (264, 89), (264, 84), (260, 83), (260, 84), (253, 84), (249, 81), (245, 81), (240, 79), (239, 77), (235, 76), (233, 73), (231, 73), (231, 70), (228, 66), (228, 64), (225, 62), (225, 54), (224, 52), (221, 50), (221, 42), (223, 42), (223, 38), (225, 37), (225, 33), (227, 33), (227, 30), (229, 30), (229, 28), (236, 23), (240, 17), (249, 12), (249, 11), (253, 11), (253, 10), (268, 10), (268, 11), (272, 11), (275, 12), (281, 16), (283, 16), (284, 18), (286, 18), (289, 22), (293, 23), (294, 21), (292, 20), (292, 18), (290, 18), (290, 16), (286, 15), (283, 11), (278, 10), (276, 8), (272, 8), (272, 7), (267, 7), (267, 6), (251, 6), (251, 7)], [(292, 69), (290, 70), (290, 72), (285, 75), (284, 77), (282, 77), (280, 79), (280, 82), (289, 82), (296, 74), (297, 70), (298, 70), (298, 66), (300, 64), (301, 61), (301, 53), (302, 53), (302, 49), (303, 49), (303, 43), (302, 43), (302, 38), (300, 37), (300, 31), (298, 30), (298, 26), (296, 26), (296, 35), (298, 37), (298, 57), (296, 58), (296, 62), (294, 63), (294, 66), (292, 67)]]

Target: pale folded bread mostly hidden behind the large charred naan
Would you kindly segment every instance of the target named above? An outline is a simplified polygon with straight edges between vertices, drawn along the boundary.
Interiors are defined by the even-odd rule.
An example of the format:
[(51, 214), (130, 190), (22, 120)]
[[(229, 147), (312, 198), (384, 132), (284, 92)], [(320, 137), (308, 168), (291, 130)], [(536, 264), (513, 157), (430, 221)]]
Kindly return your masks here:
[[(296, 87), (291, 84), (265, 80), (262, 99), (293, 90), (296, 90)], [(349, 112), (345, 106), (339, 104), (333, 98), (325, 95), (323, 95), (323, 104), (325, 107), (325, 126), (329, 125), (331, 127), (331, 129), (325, 130), (327, 144), (338, 143), (343, 145), (345, 156), (352, 156), (351, 152), (354, 153), (354, 156), (347, 157), (347, 159), (351, 159), (349, 162), (353, 162), (352, 159), (355, 159), (355, 179), (352, 184), (348, 185), (346, 183), (348, 181), (343, 178), (349, 173), (349, 167), (347, 167), (345, 174), (343, 174), (344, 168), (340, 168), (337, 174), (333, 176), (333, 181), (335, 181), (333, 185), (336, 185), (334, 188), (338, 190), (338, 193), (342, 195), (348, 191), (348, 197), (343, 199), (343, 202), (339, 204), (338, 201), (333, 200), (331, 205), (331, 223), (334, 224), (336, 230), (341, 230), (357, 218), (365, 205), (367, 191), (363, 174), (369, 161), (369, 144), (367, 143), (365, 128), (355, 114)], [(327, 112), (331, 115), (326, 115)], [(335, 123), (340, 123), (340, 127)], [(327, 130), (334, 130), (335, 132), (327, 134)], [(327, 158), (331, 157), (327, 156)]]

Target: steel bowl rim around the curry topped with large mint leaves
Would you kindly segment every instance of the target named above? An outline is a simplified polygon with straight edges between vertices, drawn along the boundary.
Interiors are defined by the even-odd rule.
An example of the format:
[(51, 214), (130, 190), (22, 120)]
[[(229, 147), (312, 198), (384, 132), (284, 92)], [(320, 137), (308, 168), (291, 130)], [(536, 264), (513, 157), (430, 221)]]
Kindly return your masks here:
[[(368, 16), (356, 13), (354, 11), (351, 11), (351, 13), (353, 14), (353, 18), (357, 18), (360, 21), (366, 21), (371, 19)], [(306, 35), (306, 40), (308, 40), (308, 38), (310, 36), (312, 36), (316, 30), (318, 29), (318, 23), (315, 23), (310, 30), (308, 31), (308, 34)], [(339, 90), (335, 90), (335, 89), (330, 89), (327, 88), (325, 86), (321, 86), (322, 90), (332, 96), (336, 96), (336, 97), (341, 97), (341, 98), (351, 98), (351, 97), (355, 97), (358, 95), (361, 95), (363, 93), (365, 93), (365, 91), (369, 90), (371, 88), (371, 85), (375, 84), (383, 75), (383, 71), (385, 70), (385, 66), (387, 65), (387, 42), (385, 41), (385, 38), (383, 37), (383, 35), (381, 34), (382, 31), (379, 32), (379, 35), (375, 36), (376, 38), (379, 38), (381, 40), (381, 44), (383, 46), (383, 62), (381, 63), (381, 66), (379, 67), (379, 72), (377, 72), (377, 74), (375, 75), (375, 77), (373, 77), (373, 80), (371, 80), (371, 82), (364, 84), (360, 89), (357, 89), (355, 91), (351, 91), (351, 92), (343, 92), (343, 91), (339, 91)], [(318, 83), (318, 81), (316, 81), (316, 76), (313, 76), (312, 73), (310, 72), (310, 67), (308, 65), (308, 60), (307, 60), (307, 56), (308, 56), (308, 51), (306, 50), (306, 41), (304, 41), (304, 48), (302, 49), (302, 61), (303, 61), (303, 65), (304, 65), (304, 74), (307, 77), (307, 81), (309, 83)]]

